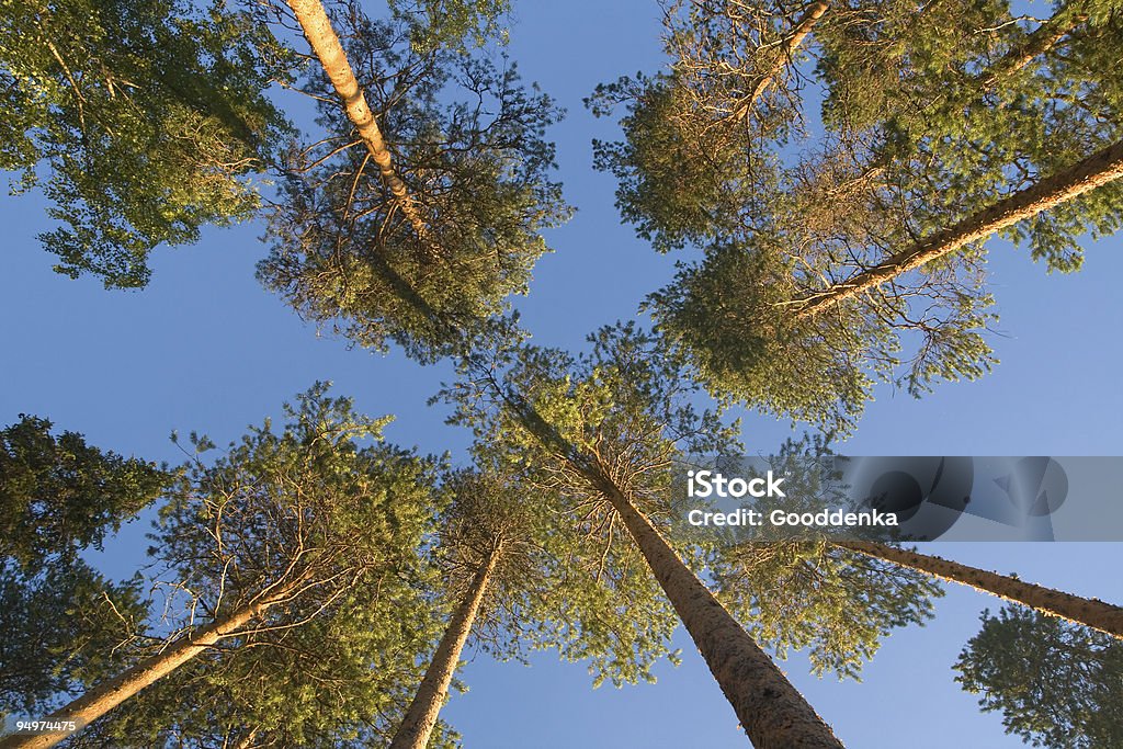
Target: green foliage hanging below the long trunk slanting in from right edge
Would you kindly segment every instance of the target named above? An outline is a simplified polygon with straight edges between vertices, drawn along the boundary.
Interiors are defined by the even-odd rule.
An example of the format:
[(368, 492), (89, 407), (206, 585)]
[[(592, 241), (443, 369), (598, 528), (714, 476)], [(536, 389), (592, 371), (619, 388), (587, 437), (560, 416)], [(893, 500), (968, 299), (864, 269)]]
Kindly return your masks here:
[[(980, 268), (931, 268), (928, 305), (915, 312), (910, 300), (875, 290), (797, 320), (788, 312), (795, 264), (763, 244), (714, 245), (645, 302), (716, 398), (848, 433), (878, 381), (920, 395), (996, 363), (983, 336), (995, 319), (990, 296), (975, 291)], [(894, 314), (900, 321), (887, 325)]]

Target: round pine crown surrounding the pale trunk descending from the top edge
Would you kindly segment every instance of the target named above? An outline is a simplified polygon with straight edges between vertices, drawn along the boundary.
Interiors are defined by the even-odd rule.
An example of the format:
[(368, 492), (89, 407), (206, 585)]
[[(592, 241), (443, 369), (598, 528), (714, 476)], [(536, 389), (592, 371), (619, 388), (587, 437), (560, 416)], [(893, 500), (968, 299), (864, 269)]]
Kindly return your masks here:
[(568, 217), (544, 139), (560, 112), (505, 58), (411, 46), (401, 19), (335, 24), (429, 236), (402, 216), (314, 71), (305, 88), (325, 99), (325, 137), (286, 162), (258, 276), (307, 319), (430, 360), (526, 291), (547, 252), (540, 231)]

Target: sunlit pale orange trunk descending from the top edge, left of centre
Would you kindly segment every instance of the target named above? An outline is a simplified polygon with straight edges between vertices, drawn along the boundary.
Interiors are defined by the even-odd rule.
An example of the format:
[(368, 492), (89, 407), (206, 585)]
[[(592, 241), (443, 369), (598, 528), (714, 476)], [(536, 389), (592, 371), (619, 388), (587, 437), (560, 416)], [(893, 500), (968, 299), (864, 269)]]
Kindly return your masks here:
[(323, 72), (328, 74), (331, 85), (339, 99), (343, 100), (347, 117), (358, 130), (359, 138), (366, 145), (374, 163), (378, 165), (378, 171), (382, 173), (386, 186), (390, 188), (391, 194), (394, 195), (394, 200), (413, 227), (418, 238), (429, 245), (429, 227), (422, 220), (417, 203), (413, 202), (405, 189), (405, 183), (394, 172), (390, 149), (382, 139), (378, 124), (374, 119), (371, 107), (366, 103), (366, 97), (363, 95), (363, 90), (355, 79), (355, 72), (351, 70), (350, 63), (347, 62), (347, 54), (344, 52), (343, 45), (339, 44), (339, 37), (335, 29), (331, 28), (331, 20), (323, 10), (323, 6), (320, 0), (287, 0), (287, 3), (296, 16), (296, 20), (300, 21), (300, 27), (304, 30), (304, 38), (308, 39), (312, 52), (320, 60)]

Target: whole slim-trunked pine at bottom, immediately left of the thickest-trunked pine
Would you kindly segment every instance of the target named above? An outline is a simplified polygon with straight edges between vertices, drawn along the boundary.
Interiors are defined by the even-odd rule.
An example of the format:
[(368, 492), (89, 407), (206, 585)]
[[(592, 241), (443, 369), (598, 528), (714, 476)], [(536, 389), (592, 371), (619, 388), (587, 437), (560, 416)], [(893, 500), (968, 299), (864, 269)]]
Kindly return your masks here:
[[(457, 472), (436, 550), (451, 614), (391, 746), (424, 747), (467, 642), (497, 658), (556, 650), (587, 664), (594, 685), (654, 682), (676, 620), (615, 520), (477, 442), (477, 472)], [(570, 513), (578, 513), (577, 522)], [(558, 519), (562, 519), (559, 522)]]

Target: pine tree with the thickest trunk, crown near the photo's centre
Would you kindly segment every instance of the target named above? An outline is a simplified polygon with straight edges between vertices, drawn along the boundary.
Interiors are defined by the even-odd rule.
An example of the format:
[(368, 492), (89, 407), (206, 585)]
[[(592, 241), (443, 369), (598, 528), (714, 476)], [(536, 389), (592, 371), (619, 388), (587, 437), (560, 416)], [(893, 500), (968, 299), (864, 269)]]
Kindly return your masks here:
[(648, 336), (626, 325), (590, 340), (592, 353), (577, 359), (533, 347), (500, 353), (497, 360), (472, 357), (466, 380), (445, 393), (458, 407), (455, 421), (522, 455), (521, 463), (565, 496), (582, 522), (596, 519), (610, 537), (620, 527), (623, 544), (642, 555), (754, 746), (841, 746), (684, 564), (681, 554), (697, 561), (701, 550), (676, 550), (657, 526), (665, 527), (674, 512), (675, 462), (728, 446), (730, 428), (713, 413), (695, 412), (692, 386)]

